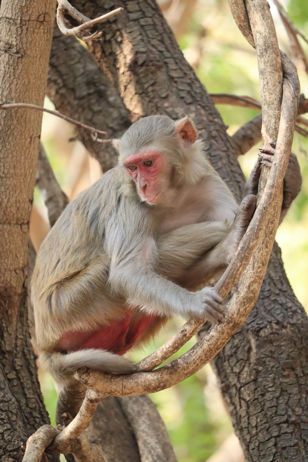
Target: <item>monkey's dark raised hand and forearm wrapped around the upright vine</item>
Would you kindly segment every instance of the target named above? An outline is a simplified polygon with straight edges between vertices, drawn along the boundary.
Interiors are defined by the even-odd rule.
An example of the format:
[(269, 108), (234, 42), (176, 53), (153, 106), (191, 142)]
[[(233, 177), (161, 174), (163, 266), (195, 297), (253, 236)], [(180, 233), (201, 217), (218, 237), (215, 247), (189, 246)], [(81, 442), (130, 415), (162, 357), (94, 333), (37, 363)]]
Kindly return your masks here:
[[(275, 152), (276, 142), (271, 143), (272, 147), (262, 146), (259, 158), (254, 165), (254, 168), (248, 178), (245, 188), (246, 194), (258, 194), (258, 186), (261, 174), (262, 164), (268, 167), (272, 166), (273, 154)], [(290, 160), (287, 171), (284, 176), (284, 197), (281, 207), (281, 213), (279, 218), (279, 225), (283, 221), (286, 213), (288, 212), (292, 202), (299, 195), (302, 188), (302, 175), (301, 168), (298, 163), (297, 157), (294, 152), (290, 153)]]

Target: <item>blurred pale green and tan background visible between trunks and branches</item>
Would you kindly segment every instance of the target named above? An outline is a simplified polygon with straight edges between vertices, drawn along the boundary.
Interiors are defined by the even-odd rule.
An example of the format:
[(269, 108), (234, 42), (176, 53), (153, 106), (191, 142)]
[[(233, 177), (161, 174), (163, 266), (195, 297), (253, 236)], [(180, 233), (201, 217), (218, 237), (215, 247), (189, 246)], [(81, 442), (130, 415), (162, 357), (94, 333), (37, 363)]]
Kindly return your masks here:
[[(231, 93), (260, 101), (259, 74), (254, 50), (237, 29), (225, 0), (160, 0), (163, 13), (187, 61), (210, 93)], [(308, 74), (304, 60), (290, 44), (278, 10), (269, 1), (280, 48), (287, 52), (298, 69), (301, 92), (308, 97)], [(308, 8), (302, 0), (282, 2), (295, 27), (308, 37)], [(299, 36), (308, 56), (308, 44)], [(268, 72), (271, 72), (270, 64)], [(53, 109), (46, 98), (45, 106)], [(236, 106), (217, 105), (223, 121), (233, 134), (259, 111)], [(304, 115), (306, 119), (307, 115)], [(67, 122), (44, 113), (42, 144), (60, 186), (72, 200), (101, 175), (97, 161), (79, 141), (69, 141), (74, 128)], [(260, 143), (261, 144), (261, 143)], [(260, 144), (258, 146), (260, 146)], [(257, 158), (258, 146), (239, 157), (248, 176)], [(295, 134), (293, 151), (302, 168), (303, 187), (280, 226), (277, 241), (282, 249), (285, 270), (297, 298), (308, 310), (308, 140)], [(47, 211), (37, 192), (30, 224), (30, 236), (36, 250), (49, 229)], [(132, 352), (138, 361), (163, 344), (182, 325), (181, 319), (169, 322), (155, 342), (142, 352)], [(189, 342), (183, 351), (193, 345)], [(39, 372), (45, 404), (54, 425), (56, 393), (51, 377)], [(242, 451), (233, 434), (223, 405), (216, 377), (206, 365), (193, 377), (151, 395), (168, 428), (180, 462), (242, 462)]]

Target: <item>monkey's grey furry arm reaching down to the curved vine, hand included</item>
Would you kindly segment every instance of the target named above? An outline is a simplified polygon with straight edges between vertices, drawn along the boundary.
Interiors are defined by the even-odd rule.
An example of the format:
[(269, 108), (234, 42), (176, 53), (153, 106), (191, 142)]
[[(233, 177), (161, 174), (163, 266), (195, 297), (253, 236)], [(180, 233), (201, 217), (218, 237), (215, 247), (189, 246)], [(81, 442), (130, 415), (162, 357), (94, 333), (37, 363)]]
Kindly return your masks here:
[(154, 238), (140, 233), (125, 243), (118, 231), (113, 233), (117, 242), (109, 243), (109, 248), (121, 250), (120, 255), (111, 255), (109, 283), (129, 304), (155, 316), (204, 316), (223, 322), (222, 299), (211, 287), (193, 293), (158, 275), (153, 264), (157, 258)]

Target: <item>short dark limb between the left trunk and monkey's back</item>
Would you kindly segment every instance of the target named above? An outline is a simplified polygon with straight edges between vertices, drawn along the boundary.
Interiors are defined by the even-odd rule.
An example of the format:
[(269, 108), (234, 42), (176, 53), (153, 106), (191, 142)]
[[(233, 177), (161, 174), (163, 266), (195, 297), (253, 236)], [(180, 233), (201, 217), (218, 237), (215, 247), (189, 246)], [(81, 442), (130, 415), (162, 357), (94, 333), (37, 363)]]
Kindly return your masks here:
[(50, 226), (53, 226), (67, 206), (68, 199), (54, 176), (42, 145), (38, 153), (36, 187), (47, 207)]

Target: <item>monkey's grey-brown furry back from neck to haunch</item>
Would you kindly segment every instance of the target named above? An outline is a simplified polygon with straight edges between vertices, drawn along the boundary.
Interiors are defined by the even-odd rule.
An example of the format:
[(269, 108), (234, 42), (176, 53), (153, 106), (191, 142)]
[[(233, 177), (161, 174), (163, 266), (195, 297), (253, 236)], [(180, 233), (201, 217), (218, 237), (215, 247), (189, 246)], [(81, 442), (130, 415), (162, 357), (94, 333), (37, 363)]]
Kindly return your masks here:
[(118, 167), (106, 172), (68, 204), (42, 242), (31, 280), (33, 302), (106, 253), (105, 232), (115, 212), (121, 182)]

